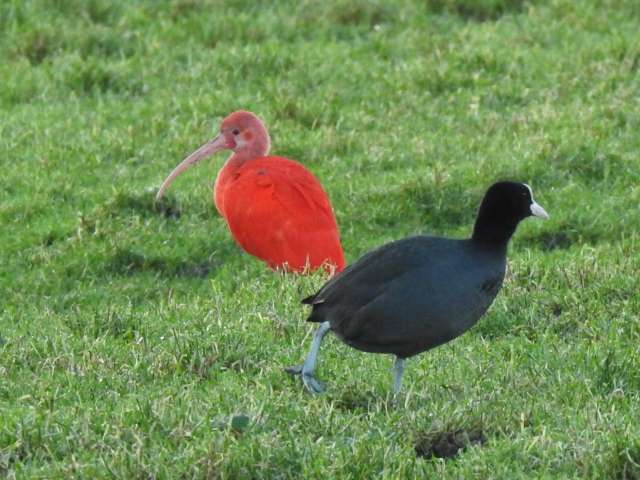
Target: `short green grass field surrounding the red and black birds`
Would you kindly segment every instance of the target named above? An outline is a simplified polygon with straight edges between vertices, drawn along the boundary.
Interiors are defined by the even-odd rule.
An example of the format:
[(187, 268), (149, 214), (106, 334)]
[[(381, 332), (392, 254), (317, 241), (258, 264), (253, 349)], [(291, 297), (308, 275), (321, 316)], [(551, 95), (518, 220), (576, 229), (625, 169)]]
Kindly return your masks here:
[[(228, 3), (0, 4), (0, 477), (640, 478), (638, 2)], [(223, 158), (154, 208), (239, 108), (350, 261), (467, 235), (497, 179), (551, 214), (398, 402), (391, 359), (337, 341), (325, 395), (282, 372), (322, 278), (235, 246)]]

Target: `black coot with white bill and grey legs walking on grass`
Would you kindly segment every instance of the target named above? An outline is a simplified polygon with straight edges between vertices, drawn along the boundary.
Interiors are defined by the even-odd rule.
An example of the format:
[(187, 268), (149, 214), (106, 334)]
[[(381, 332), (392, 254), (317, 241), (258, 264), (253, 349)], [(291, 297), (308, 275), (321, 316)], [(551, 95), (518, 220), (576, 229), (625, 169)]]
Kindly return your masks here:
[(395, 355), (399, 392), (406, 358), (462, 335), (487, 311), (502, 287), (509, 239), (529, 216), (549, 218), (531, 187), (498, 182), (482, 200), (471, 238), (416, 236), (365, 254), (302, 300), (313, 308), (308, 321), (320, 327), (304, 364), (286, 371), (322, 392), (313, 372), (332, 330), (358, 350)]

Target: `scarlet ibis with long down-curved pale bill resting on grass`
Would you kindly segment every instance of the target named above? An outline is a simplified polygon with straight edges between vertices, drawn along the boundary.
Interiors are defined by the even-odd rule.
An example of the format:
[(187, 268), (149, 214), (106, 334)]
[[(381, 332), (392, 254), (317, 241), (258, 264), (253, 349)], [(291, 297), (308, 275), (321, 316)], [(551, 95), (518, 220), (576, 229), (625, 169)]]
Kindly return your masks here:
[(270, 146), (256, 115), (233, 112), (222, 121), (218, 136), (169, 174), (156, 201), (191, 165), (219, 150), (232, 150), (216, 178), (213, 201), (236, 242), (274, 270), (342, 271), (344, 253), (327, 194), (298, 162), (267, 156)]

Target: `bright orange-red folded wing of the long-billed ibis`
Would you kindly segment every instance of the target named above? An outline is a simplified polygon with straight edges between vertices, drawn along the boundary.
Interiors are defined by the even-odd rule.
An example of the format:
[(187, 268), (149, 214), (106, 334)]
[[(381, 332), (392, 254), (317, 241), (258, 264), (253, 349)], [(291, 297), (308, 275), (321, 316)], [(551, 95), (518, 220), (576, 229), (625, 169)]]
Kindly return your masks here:
[(238, 243), (277, 268), (344, 267), (335, 216), (318, 180), (279, 157), (247, 162), (225, 189), (225, 217)]

